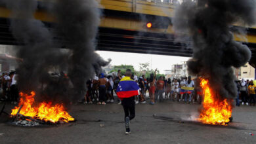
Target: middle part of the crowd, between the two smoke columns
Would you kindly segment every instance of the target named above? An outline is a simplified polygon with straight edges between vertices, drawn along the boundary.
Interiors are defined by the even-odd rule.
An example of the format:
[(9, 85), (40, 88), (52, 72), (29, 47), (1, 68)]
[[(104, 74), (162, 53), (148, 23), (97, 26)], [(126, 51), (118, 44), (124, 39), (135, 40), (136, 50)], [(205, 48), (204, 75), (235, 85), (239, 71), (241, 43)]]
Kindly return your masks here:
[[(121, 71), (117, 74), (95, 76), (94, 79), (87, 81), (87, 94), (85, 95), (85, 104), (97, 103), (106, 105), (106, 103), (114, 103), (114, 93), (116, 93), (119, 81), (124, 77)], [(165, 79), (159, 77), (156, 79), (156, 71), (146, 78), (142, 75), (138, 78), (136, 73), (131, 75), (131, 79), (137, 82), (140, 92), (135, 96), (135, 103), (146, 103), (146, 94), (148, 92), (150, 101), (154, 105), (156, 101), (163, 101), (164, 99), (171, 99), (173, 101), (184, 101), (185, 103), (201, 103), (202, 92), (200, 88), (194, 88), (195, 83), (191, 77), (184, 77), (182, 79)], [(184, 89), (183, 89), (184, 88)], [(121, 101), (118, 99), (119, 104)]]

